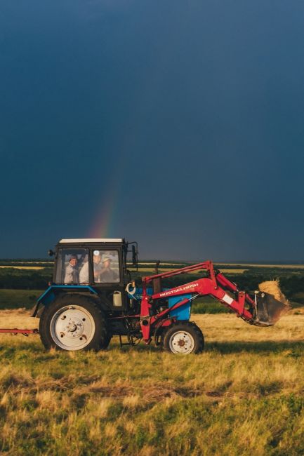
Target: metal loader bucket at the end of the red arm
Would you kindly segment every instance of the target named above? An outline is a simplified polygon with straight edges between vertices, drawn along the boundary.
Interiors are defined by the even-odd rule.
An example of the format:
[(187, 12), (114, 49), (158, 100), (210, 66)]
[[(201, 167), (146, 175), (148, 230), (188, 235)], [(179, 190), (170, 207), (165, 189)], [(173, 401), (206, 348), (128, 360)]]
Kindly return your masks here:
[(256, 315), (254, 324), (256, 326), (272, 326), (286, 311), (289, 310), (288, 302), (282, 302), (270, 293), (259, 291), (256, 293)]

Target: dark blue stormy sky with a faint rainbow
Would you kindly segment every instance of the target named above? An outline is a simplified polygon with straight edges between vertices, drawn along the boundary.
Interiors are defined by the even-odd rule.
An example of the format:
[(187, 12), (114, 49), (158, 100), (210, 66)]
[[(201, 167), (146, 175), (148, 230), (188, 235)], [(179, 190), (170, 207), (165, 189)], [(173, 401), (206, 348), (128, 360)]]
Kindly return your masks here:
[(0, 2), (0, 257), (303, 260), (303, 1)]

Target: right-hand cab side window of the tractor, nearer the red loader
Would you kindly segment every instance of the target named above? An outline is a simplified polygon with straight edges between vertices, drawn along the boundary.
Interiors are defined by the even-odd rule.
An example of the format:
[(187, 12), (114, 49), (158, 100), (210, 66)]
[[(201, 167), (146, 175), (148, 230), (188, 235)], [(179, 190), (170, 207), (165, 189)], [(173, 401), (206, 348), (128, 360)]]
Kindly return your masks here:
[(94, 250), (93, 273), (95, 283), (119, 282), (118, 250)]

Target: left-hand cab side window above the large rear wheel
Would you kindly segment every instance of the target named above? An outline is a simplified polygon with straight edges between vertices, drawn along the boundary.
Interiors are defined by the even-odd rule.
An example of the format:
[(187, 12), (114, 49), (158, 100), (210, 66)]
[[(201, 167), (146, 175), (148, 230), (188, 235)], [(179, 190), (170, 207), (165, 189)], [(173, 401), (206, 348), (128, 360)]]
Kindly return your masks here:
[(88, 283), (87, 248), (62, 248), (59, 250), (56, 283)]

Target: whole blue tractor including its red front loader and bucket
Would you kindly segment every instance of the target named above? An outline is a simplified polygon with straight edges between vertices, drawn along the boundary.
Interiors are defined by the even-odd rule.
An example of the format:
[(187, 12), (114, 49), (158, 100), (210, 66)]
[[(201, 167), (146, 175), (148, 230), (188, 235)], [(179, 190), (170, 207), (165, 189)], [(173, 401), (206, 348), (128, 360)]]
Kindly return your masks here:
[[(154, 339), (172, 353), (197, 354), (204, 348), (201, 330), (190, 321), (192, 302), (197, 297), (211, 296), (256, 326), (272, 326), (289, 308), (280, 290), (274, 294), (265, 289), (249, 295), (211, 261), (142, 277), (140, 288), (136, 288), (127, 269), (128, 252), (132, 253), (131, 264), (137, 267), (134, 242), (62, 239), (58, 243), (53, 283), (39, 297), (33, 314), (40, 316), (39, 333), (46, 348), (106, 349), (117, 335), (121, 344), (122, 336), (127, 337), (128, 344), (140, 340), (150, 344)], [(164, 288), (161, 283), (194, 271), (199, 274), (190, 283), (173, 288)], [(270, 285), (272, 289), (278, 287), (277, 282)]]

